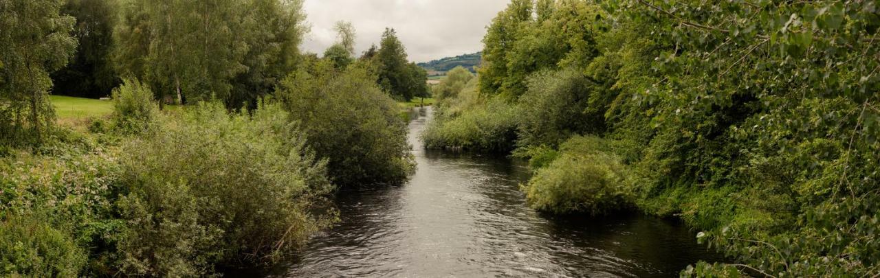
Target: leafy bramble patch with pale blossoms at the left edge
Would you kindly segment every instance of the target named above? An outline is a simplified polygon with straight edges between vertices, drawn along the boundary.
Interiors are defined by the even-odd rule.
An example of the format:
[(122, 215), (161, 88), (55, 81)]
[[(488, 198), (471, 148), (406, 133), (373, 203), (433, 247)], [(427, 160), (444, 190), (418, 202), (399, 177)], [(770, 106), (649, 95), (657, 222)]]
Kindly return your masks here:
[[(0, 238), (15, 239), (0, 244), (0, 254), (25, 256), (30, 264), (0, 266), (0, 273), (45, 276), (37, 265), (51, 263), (60, 276), (93, 276), (115, 267), (113, 246), (124, 228), (114, 208), (120, 168), (112, 152), (70, 137), (53, 136), (42, 155), (0, 158)], [(83, 261), (70, 259), (80, 256), (75, 252)]]

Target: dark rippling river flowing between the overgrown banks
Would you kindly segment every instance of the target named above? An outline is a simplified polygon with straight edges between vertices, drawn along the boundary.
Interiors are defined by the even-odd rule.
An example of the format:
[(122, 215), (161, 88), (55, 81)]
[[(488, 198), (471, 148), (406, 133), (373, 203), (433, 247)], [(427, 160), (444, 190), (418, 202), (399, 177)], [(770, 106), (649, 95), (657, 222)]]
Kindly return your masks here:
[(418, 170), (407, 185), (340, 194), (341, 223), (273, 276), (669, 277), (721, 260), (669, 220), (536, 213), (518, 190), (527, 165), (424, 150), (430, 109), (415, 108), (409, 123)]

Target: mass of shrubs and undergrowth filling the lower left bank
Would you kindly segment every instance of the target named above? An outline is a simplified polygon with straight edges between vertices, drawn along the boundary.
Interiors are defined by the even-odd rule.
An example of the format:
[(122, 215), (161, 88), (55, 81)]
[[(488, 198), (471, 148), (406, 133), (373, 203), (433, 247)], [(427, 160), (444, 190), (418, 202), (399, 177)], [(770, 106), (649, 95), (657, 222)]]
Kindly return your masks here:
[(336, 219), (326, 159), (280, 106), (160, 113), (127, 82), (91, 133), (0, 157), (0, 271), (214, 274), (273, 262)]

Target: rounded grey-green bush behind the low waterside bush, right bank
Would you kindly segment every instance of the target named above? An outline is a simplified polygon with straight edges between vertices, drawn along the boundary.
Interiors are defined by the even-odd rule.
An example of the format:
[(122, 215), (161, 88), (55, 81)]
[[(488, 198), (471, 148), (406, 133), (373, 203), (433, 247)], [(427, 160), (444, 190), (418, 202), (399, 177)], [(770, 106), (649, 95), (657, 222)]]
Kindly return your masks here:
[(578, 134), (605, 129), (605, 101), (599, 86), (576, 70), (539, 71), (527, 79), (518, 144), (557, 146)]

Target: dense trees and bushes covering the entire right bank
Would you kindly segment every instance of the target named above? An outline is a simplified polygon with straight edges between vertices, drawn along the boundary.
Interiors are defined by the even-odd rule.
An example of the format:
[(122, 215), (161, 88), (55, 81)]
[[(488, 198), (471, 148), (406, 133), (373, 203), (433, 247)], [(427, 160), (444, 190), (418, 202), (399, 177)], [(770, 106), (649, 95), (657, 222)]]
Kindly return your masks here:
[(533, 208), (676, 216), (737, 261), (683, 275), (876, 276), (877, 9), (511, 1), (423, 140), (516, 148)]

